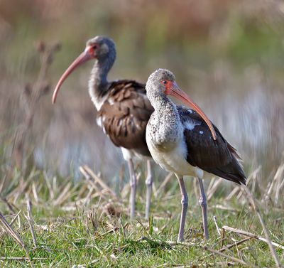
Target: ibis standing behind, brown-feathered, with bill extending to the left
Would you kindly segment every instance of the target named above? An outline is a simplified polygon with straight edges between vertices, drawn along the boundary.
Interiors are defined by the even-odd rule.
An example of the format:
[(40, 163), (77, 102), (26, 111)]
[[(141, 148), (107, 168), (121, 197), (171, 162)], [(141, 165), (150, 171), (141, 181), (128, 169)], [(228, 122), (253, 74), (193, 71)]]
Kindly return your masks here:
[(53, 103), (67, 76), (79, 65), (92, 59), (95, 61), (89, 78), (89, 95), (98, 111), (97, 124), (102, 127), (114, 145), (121, 148), (124, 159), (128, 161), (131, 178), (131, 218), (135, 215), (136, 199), (133, 158), (147, 159), (146, 218), (148, 218), (153, 176), (149, 160), (151, 154), (146, 144), (146, 125), (153, 107), (146, 97), (145, 85), (134, 80), (113, 82), (107, 80), (109, 70), (116, 59), (116, 47), (111, 38), (96, 36), (87, 41), (84, 52), (67, 68), (55, 87)]

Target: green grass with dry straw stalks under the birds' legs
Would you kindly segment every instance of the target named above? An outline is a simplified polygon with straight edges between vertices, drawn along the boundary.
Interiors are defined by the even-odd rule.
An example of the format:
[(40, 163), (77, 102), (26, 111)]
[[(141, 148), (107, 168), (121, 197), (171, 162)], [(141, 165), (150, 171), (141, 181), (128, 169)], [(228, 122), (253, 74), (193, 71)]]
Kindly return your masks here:
[[(261, 189), (257, 187), (253, 191), (257, 176), (251, 176), (249, 188), (262, 199), (257, 199), (256, 203), (271, 240), (278, 244), (275, 249), (283, 263), (283, 197), (280, 196), (278, 205), (275, 204), (278, 183), (281, 183), (283, 176), (281, 172), (283, 169), (271, 177), (274, 186), (270, 193), (270, 187), (261, 195)], [(214, 183), (215, 186), (217, 183), (217, 187)], [(195, 182), (188, 179), (190, 205), (186, 241), (178, 244), (175, 241), (180, 217), (180, 195), (175, 178), (170, 179), (163, 189), (154, 191), (151, 219), (146, 221), (143, 219), (143, 179), (139, 180), (138, 215), (131, 220), (128, 185), (117, 194), (100, 184), (96, 174), (80, 183), (72, 183), (68, 178), (48, 178), (46, 173), (32, 170), (26, 180), (20, 178), (9, 182), (9, 191), (0, 205), (9, 223), (18, 213), (12, 227), (20, 235), (31, 264), (23, 247), (2, 228), (1, 266), (243, 267), (247, 264), (249, 267), (274, 267), (275, 261), (266, 242), (225, 230), (229, 226), (265, 237), (258, 217), (242, 191), (238, 188), (232, 195), (228, 185), (219, 180), (214, 180), (214, 183), (207, 187), (208, 196), (212, 196), (208, 203), (209, 241), (204, 241), (202, 237), (202, 215), (197, 203), (199, 196), (194, 191)], [(155, 189), (158, 188), (158, 184), (155, 186)], [(30, 217), (26, 208), (27, 200), (32, 204)], [(213, 216), (216, 217), (218, 230)], [(35, 231), (36, 242), (33, 242), (28, 219)], [(224, 250), (228, 245), (229, 249)]]

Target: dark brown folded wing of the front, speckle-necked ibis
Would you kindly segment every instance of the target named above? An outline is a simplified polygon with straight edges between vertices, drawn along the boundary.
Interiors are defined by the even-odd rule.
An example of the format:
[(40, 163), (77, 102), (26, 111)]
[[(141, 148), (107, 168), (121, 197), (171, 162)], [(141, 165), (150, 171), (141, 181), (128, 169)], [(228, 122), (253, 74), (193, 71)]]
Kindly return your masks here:
[(239, 164), (239, 155), (226, 139), (214, 126), (217, 139), (214, 141), (209, 127), (197, 112), (185, 107), (178, 106), (180, 119), (195, 124), (195, 127), (185, 129), (185, 139), (187, 144), (187, 162), (192, 166), (198, 166), (204, 171), (226, 178), (235, 183), (246, 184), (246, 175)]

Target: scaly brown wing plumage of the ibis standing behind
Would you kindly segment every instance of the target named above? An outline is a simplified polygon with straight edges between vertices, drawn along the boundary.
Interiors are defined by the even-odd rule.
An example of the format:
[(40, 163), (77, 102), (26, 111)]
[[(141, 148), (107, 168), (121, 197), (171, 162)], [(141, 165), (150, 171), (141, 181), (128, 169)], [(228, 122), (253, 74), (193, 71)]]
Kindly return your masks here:
[(145, 85), (119, 80), (110, 87), (97, 114), (104, 132), (116, 146), (151, 156), (146, 144), (146, 125), (154, 109), (146, 97)]

